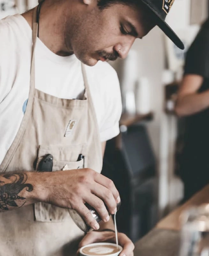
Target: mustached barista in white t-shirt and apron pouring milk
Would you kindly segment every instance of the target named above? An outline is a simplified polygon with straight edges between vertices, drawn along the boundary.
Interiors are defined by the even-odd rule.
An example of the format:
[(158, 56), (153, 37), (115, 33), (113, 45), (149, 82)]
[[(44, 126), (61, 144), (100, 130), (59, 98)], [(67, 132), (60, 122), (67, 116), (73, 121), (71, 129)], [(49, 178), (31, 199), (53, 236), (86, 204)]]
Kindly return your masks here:
[[(105, 141), (119, 133), (121, 101), (105, 61), (125, 58), (156, 24), (183, 48), (164, 22), (171, 4), (45, 0), (1, 21), (0, 254), (74, 255), (84, 244), (115, 242), (109, 213), (120, 196), (99, 172)], [(99, 232), (84, 236), (67, 209)], [(128, 237), (118, 238), (120, 256), (133, 255)]]

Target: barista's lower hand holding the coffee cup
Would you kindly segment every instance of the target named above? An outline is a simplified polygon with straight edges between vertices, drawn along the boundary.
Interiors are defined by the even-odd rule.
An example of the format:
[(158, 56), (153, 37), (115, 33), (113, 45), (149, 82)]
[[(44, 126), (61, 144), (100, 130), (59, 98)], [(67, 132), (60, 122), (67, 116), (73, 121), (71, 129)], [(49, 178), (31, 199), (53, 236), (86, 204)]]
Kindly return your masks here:
[[(92, 243), (116, 243), (115, 241), (115, 233), (111, 231), (91, 231), (81, 240), (79, 244), (79, 249), (87, 244)], [(119, 256), (134, 256), (134, 244), (131, 240), (123, 233), (118, 233), (118, 244), (123, 247), (122, 252), (120, 252)], [(77, 251), (77, 253), (79, 250)]]

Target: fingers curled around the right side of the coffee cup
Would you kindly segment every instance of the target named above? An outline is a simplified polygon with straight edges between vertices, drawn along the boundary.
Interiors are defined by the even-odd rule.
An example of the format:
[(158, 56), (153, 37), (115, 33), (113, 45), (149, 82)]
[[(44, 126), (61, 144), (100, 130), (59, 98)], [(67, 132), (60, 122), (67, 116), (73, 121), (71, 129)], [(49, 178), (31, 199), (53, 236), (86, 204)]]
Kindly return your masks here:
[(132, 241), (123, 233), (118, 233), (118, 242), (123, 247), (122, 252), (119, 256), (133, 256), (134, 244)]

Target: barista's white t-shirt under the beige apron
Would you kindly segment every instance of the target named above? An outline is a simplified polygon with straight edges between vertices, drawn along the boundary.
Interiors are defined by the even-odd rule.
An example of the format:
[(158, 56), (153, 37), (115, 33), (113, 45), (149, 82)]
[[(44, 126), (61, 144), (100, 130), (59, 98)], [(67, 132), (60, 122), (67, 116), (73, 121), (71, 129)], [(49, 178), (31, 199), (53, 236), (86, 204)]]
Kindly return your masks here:
[[(30, 85), (32, 31), (19, 14), (0, 20), (0, 163), (14, 140), (26, 108)], [(100, 140), (119, 133), (120, 86), (115, 70), (106, 62), (86, 66), (95, 106)], [(84, 90), (81, 62), (62, 57), (39, 39), (35, 49), (35, 88), (64, 99), (76, 99)]]

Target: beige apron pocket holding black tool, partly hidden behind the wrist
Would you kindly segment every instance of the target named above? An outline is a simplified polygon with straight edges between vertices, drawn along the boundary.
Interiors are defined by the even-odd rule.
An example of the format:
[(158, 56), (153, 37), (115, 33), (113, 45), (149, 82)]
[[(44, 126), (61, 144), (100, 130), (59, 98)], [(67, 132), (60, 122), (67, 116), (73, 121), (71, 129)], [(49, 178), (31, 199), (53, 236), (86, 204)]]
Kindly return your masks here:
[[(73, 152), (71, 150), (74, 150)], [(52, 172), (60, 171), (60, 170), (73, 170), (73, 169), (81, 169), (84, 166), (87, 166), (86, 155), (86, 146), (78, 145), (78, 146), (67, 146), (67, 147), (56, 147), (56, 146), (40, 146), (38, 152), (38, 160), (36, 164), (36, 170), (38, 170), (38, 164), (43, 159), (46, 154), (51, 154), (53, 156), (53, 167)], [(84, 158), (80, 161), (76, 161), (78, 159), (79, 154), (82, 154)], [(60, 157), (62, 160), (58, 160)], [(72, 160), (75, 161), (65, 161)], [(35, 203), (34, 204), (34, 214), (35, 221), (42, 222), (62, 222), (70, 218), (68, 209), (60, 208), (52, 204), (47, 203)]]

